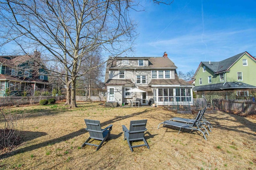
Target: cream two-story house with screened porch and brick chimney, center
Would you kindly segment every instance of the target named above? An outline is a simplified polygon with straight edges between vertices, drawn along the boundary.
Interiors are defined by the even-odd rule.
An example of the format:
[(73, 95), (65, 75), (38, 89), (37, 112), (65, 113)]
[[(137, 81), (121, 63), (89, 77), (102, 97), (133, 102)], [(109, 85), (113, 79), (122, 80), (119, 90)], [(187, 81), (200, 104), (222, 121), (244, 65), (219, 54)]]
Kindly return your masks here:
[(105, 76), (107, 102), (192, 105), (193, 86), (178, 78), (176, 68), (167, 53), (163, 57), (110, 57)]

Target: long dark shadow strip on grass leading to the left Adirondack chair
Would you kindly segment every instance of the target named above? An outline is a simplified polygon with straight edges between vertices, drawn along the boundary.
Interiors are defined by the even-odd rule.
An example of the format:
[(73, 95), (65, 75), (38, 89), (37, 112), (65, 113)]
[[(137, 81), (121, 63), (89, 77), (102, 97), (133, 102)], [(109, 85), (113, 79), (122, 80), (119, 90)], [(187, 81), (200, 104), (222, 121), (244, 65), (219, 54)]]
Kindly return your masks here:
[(4, 153), (4, 154), (0, 155), (0, 159), (8, 158), (10, 156), (13, 156), (13, 155), (16, 155), (16, 154), (19, 154), (19, 153), (28, 152), (28, 151), (31, 151), (31, 150), (34, 150), (34, 149), (46, 147), (47, 145), (53, 145), (53, 144), (56, 144), (56, 143), (60, 143), (62, 141), (66, 141), (68, 139), (72, 139), (74, 137), (82, 135), (82, 134), (84, 134), (84, 131), (85, 131), (84, 129), (80, 129), (78, 131), (69, 133), (67, 135), (64, 135), (62, 137), (58, 137), (56, 139), (51, 139), (49, 141), (45, 141), (45, 142), (38, 143), (38, 144), (35, 144), (35, 145), (31, 145), (31, 146), (28, 146), (28, 147), (24, 147), (24, 148), (21, 148), (21, 149), (13, 150), (13, 151), (8, 152), (8, 153)]

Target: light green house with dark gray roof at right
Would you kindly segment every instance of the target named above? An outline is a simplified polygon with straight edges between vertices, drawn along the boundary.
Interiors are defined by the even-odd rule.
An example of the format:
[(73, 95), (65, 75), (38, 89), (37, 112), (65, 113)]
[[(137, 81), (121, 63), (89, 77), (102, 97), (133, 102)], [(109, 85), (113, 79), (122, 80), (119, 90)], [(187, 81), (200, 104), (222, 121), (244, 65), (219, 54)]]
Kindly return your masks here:
[[(256, 88), (256, 59), (243, 52), (219, 62), (201, 62), (194, 74), (194, 91), (237, 89), (237, 96), (248, 96), (244, 89)], [(242, 89), (242, 94), (238, 89)], [(245, 94), (247, 93), (247, 94)]]

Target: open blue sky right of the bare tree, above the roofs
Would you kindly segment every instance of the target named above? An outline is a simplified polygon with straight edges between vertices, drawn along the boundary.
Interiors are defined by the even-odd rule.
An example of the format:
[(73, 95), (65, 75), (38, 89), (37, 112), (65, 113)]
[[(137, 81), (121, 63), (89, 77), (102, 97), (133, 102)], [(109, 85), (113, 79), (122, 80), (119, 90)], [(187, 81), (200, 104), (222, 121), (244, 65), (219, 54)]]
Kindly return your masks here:
[(141, 0), (135, 57), (168, 57), (186, 73), (201, 61), (222, 61), (244, 51), (256, 56), (256, 0)]

